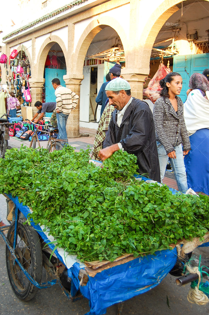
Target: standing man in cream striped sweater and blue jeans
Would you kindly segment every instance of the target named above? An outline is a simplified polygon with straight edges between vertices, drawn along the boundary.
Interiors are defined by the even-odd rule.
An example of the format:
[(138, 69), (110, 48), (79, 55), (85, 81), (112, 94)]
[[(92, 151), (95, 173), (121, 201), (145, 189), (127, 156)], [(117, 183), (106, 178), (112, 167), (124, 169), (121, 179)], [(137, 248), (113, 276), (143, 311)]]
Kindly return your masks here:
[[(58, 78), (52, 80), (52, 86), (55, 89), (57, 113), (57, 127), (59, 129), (58, 139), (67, 139), (66, 123), (72, 109), (75, 109), (78, 103), (79, 96), (70, 89), (60, 85)], [(68, 144), (68, 141), (62, 142)]]

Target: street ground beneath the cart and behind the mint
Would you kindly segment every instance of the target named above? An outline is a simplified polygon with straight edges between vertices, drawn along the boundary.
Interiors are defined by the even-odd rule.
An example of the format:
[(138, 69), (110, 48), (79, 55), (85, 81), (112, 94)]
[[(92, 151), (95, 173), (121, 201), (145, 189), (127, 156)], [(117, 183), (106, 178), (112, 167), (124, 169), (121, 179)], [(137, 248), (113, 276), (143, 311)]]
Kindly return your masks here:
[[(88, 132), (87, 132), (88, 131)], [(88, 133), (89, 137), (80, 137), (70, 139), (69, 143), (79, 150), (85, 149), (88, 144), (93, 146), (93, 131), (92, 129), (83, 130), (83, 133)], [(95, 132), (95, 131), (94, 131)], [(92, 134), (91, 134), (92, 133)], [(10, 138), (9, 145), (19, 147), (22, 142)], [(42, 142), (43, 143), (43, 142)], [(46, 143), (46, 142), (45, 142)], [(24, 144), (28, 145), (29, 141)], [(173, 174), (168, 174), (167, 181), (173, 180)], [(175, 188), (175, 187), (174, 187)], [(5, 197), (0, 195), (0, 215), (6, 223), (6, 202)], [(198, 264), (199, 255), (202, 255), (202, 263), (209, 266), (209, 248), (196, 249), (193, 253), (193, 263)], [(71, 303), (62, 293), (59, 285), (54, 285), (49, 289), (41, 289), (33, 300), (24, 302), (20, 301), (13, 293), (6, 270), (5, 262), (5, 244), (3, 238), (0, 237), (0, 315), (10, 314), (31, 314), (31, 315), (84, 315), (89, 311), (88, 300), (86, 298)], [(183, 315), (183, 314), (202, 314), (206, 315), (209, 312), (209, 305), (198, 306), (187, 301), (189, 284), (184, 287), (178, 287), (175, 284), (175, 277), (167, 275), (154, 289), (142, 295), (138, 295), (128, 301), (125, 301), (123, 307), (123, 315)], [(43, 270), (42, 282), (49, 280)], [(169, 307), (167, 305), (167, 297)], [(107, 315), (116, 315), (117, 305), (110, 306), (107, 309)]]

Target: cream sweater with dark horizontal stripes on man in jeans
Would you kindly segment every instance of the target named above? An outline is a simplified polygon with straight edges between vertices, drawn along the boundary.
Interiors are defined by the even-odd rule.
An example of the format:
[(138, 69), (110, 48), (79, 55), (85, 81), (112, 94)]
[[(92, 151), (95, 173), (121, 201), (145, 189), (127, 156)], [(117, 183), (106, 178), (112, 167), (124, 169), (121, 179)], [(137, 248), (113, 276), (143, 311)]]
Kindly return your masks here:
[(70, 89), (59, 85), (55, 89), (54, 94), (56, 96), (57, 103), (55, 111), (58, 109), (59, 112), (63, 112), (64, 114), (68, 115), (72, 109), (76, 108), (79, 96)]

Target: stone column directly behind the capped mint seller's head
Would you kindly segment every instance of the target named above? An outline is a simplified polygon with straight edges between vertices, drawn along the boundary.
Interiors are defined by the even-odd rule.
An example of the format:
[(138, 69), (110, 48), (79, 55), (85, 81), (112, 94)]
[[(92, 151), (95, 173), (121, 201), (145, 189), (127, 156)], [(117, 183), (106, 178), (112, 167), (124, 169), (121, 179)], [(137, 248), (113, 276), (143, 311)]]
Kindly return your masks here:
[[(125, 69), (124, 69), (125, 70)], [(128, 69), (126, 69), (127, 74), (123, 73), (123, 77), (131, 86), (131, 96), (142, 100), (143, 99), (143, 85), (144, 79), (147, 75), (137, 74), (137, 73), (129, 73)]]

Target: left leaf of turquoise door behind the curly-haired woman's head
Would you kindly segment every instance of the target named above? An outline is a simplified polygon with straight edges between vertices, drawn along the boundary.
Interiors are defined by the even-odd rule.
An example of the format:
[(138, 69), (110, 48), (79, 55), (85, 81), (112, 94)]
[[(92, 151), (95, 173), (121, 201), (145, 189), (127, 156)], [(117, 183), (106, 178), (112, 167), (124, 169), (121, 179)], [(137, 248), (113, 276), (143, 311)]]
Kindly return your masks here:
[(189, 77), (191, 68), (191, 55), (182, 55), (173, 57), (173, 72), (178, 72), (183, 80), (180, 98), (185, 102), (187, 95), (186, 91), (189, 89)]

